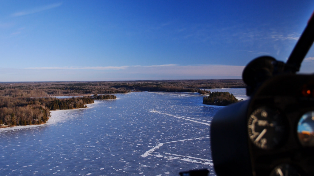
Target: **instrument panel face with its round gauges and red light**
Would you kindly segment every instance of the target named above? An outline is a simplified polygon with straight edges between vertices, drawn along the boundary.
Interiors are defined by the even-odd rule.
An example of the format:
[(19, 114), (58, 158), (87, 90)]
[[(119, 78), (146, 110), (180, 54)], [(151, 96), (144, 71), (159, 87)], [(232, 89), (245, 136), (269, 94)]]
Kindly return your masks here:
[(313, 81), (278, 75), (252, 96), (246, 120), (253, 175), (314, 175)]

